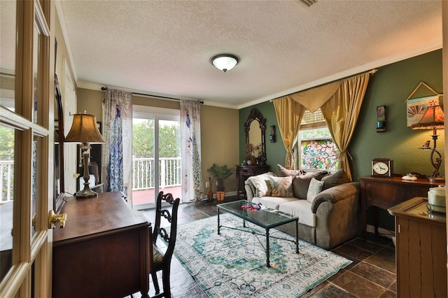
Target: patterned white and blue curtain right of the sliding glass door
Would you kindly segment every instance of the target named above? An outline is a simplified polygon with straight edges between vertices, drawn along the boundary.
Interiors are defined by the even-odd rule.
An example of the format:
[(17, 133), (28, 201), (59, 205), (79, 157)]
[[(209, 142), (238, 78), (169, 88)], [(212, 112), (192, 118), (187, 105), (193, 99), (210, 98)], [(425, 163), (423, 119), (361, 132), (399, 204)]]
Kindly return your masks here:
[(204, 199), (199, 101), (181, 100), (182, 201)]

